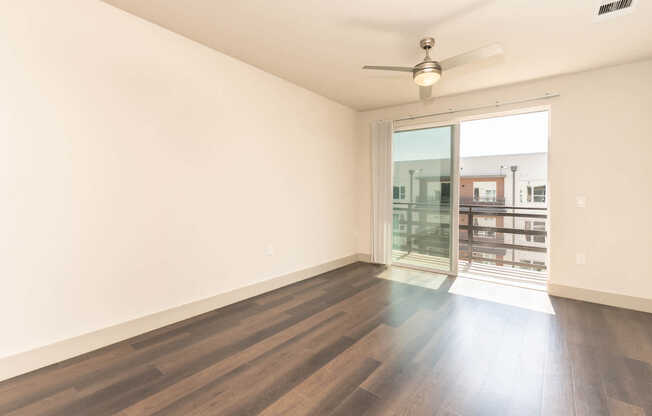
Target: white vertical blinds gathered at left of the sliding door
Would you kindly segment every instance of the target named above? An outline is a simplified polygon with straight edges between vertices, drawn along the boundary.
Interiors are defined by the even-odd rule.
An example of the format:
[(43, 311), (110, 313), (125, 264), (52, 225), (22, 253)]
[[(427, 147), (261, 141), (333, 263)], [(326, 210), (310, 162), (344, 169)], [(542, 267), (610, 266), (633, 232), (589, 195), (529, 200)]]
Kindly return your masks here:
[(392, 122), (371, 124), (371, 261), (392, 262)]

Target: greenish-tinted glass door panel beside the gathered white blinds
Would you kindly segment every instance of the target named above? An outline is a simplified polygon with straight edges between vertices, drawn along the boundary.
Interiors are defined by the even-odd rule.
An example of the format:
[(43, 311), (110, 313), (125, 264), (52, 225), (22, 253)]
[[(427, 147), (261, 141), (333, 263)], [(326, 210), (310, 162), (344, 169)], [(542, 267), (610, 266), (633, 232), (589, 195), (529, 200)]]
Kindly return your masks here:
[(458, 127), (394, 132), (393, 263), (457, 274)]

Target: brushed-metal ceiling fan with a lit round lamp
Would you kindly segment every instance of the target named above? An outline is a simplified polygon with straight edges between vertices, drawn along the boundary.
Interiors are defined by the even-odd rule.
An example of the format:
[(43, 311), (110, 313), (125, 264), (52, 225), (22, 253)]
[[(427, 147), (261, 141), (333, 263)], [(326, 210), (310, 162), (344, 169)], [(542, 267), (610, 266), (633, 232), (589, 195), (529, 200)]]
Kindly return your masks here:
[(471, 52), (453, 56), (437, 62), (430, 57), (430, 49), (435, 46), (434, 38), (423, 38), (419, 41), (421, 49), (426, 51), (423, 61), (413, 67), (407, 66), (375, 66), (365, 65), (362, 69), (379, 69), (382, 71), (400, 71), (411, 72), (414, 83), (419, 86), (419, 96), (421, 99), (427, 99), (432, 95), (432, 86), (441, 78), (442, 71), (455, 68), (456, 66), (466, 65), (474, 61), (490, 58), (496, 55), (502, 55), (503, 48), (497, 44), (491, 44)]

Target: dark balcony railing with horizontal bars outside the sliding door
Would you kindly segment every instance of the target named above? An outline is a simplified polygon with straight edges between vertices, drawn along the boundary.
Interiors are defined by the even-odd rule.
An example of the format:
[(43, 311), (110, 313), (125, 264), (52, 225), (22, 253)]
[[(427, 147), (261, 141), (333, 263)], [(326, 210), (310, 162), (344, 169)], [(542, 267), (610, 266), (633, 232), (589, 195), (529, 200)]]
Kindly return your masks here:
[[(492, 201), (493, 202), (493, 201)], [(405, 203), (395, 202), (394, 249), (419, 254), (450, 258), (450, 206), (447, 203)], [(544, 262), (515, 261), (505, 259), (507, 250), (546, 253), (545, 241), (548, 238), (545, 223), (546, 208), (511, 207), (493, 203), (460, 204), (460, 259), (509, 265), (519, 268), (546, 270)], [(493, 218), (495, 226), (476, 224), (476, 218)], [(504, 226), (504, 219), (511, 218), (512, 227)], [(539, 228), (516, 228), (517, 219), (536, 221)], [(543, 225), (540, 223), (543, 222)], [(529, 227), (535, 228), (535, 227)], [(505, 234), (511, 234), (511, 242)], [(532, 245), (516, 244), (515, 236), (525, 236)], [(397, 242), (397, 237), (401, 239)], [(403, 240), (404, 239), (404, 240)], [(484, 255), (484, 256), (481, 256)], [(487, 257), (485, 257), (487, 256)]]

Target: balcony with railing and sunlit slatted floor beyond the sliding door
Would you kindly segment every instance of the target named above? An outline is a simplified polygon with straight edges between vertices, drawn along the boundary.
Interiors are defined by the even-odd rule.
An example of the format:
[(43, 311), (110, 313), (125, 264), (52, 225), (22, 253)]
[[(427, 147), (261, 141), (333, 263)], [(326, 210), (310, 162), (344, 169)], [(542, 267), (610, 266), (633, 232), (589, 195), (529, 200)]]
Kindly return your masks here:
[[(472, 202), (472, 203), (468, 203)], [(393, 261), (442, 269), (450, 264), (447, 203), (393, 204)], [(545, 284), (547, 209), (511, 207), (504, 201), (461, 201), (460, 274), (500, 278), (519, 285)]]

